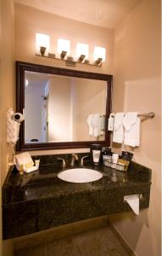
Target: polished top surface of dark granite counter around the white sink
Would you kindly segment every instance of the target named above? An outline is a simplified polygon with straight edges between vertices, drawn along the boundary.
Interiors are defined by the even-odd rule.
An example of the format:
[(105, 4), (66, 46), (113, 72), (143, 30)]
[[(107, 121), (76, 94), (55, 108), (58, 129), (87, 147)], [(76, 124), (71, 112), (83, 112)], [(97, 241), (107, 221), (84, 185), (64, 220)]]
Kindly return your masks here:
[[(77, 167), (81, 168), (81, 166), (74, 168)], [(120, 172), (107, 166), (87, 165), (84, 167), (103, 173), (103, 177), (90, 183), (69, 183), (59, 179), (58, 173), (70, 169), (70, 166), (63, 169), (60, 165), (45, 164), (40, 166), (36, 172), (23, 175), (20, 175), (14, 168), (8, 179), (8, 195), (3, 195), (3, 205), (37, 201), (51, 196), (58, 198), (87, 191), (140, 187), (151, 183), (151, 171), (133, 162), (128, 172)], [(112, 181), (114, 176), (116, 182)]]

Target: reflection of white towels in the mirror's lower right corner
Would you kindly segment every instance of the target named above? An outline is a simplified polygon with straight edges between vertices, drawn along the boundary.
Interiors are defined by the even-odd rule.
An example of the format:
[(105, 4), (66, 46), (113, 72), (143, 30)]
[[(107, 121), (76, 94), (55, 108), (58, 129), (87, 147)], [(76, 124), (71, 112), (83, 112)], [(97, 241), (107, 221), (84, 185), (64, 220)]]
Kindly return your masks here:
[(104, 133), (104, 117), (102, 114), (94, 113), (87, 117), (87, 124), (89, 126), (89, 135), (99, 137)]

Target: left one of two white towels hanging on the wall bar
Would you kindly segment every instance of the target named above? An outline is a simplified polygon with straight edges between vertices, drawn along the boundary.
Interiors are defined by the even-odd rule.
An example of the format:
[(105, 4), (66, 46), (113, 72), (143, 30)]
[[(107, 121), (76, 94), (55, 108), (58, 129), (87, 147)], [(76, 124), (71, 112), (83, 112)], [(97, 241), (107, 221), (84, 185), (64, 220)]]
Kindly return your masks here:
[(123, 119), (125, 113), (115, 113), (113, 143), (122, 143), (124, 138)]

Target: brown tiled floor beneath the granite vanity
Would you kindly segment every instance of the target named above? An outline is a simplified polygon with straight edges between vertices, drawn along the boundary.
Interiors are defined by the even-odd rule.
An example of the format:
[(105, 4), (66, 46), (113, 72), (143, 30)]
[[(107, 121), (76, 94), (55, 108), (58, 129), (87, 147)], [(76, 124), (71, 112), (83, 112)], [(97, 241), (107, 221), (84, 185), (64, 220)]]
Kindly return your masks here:
[(109, 227), (21, 249), (15, 256), (129, 256)]

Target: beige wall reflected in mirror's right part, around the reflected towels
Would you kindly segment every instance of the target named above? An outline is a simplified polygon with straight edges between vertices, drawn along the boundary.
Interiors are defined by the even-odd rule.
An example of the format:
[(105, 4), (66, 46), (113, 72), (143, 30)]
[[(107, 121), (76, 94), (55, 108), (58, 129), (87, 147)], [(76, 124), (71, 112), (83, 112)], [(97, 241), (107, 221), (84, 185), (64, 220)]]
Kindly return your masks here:
[(76, 86), (76, 137), (77, 140), (103, 140), (103, 136), (89, 136), (87, 117), (89, 114), (106, 113), (107, 83), (92, 79), (77, 79)]

